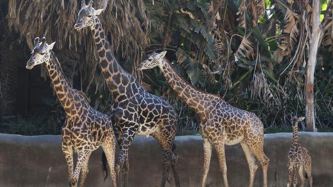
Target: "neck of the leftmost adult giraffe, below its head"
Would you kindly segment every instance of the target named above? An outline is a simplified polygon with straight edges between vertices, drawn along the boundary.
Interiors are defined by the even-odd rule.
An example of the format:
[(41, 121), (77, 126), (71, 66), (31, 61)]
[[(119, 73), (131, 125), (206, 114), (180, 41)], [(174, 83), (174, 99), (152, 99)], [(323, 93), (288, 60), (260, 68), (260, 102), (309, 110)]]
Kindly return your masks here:
[(63, 106), (67, 115), (70, 115), (70, 108), (74, 101), (74, 90), (64, 76), (62, 68), (55, 57), (53, 51), (50, 51), (50, 59), (47, 64), (48, 75), (51, 78), (56, 95)]

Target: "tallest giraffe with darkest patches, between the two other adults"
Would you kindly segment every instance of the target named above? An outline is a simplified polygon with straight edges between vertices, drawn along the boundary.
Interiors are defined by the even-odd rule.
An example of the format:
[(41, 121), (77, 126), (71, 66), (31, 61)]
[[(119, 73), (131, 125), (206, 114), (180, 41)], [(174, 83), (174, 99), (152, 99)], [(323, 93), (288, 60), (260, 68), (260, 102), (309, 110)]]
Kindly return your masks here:
[[(81, 2), (81, 9), (74, 29), (91, 29), (98, 52), (98, 61), (106, 85), (111, 92), (111, 105), (114, 132), (120, 147), (116, 161), (118, 185), (128, 185), (128, 149), (135, 135), (152, 135), (163, 151), (163, 176), (161, 187), (169, 181), (170, 167), (173, 170), (175, 184), (180, 186), (177, 170), (175, 135), (178, 116), (173, 107), (162, 98), (148, 93), (137, 79), (123, 70), (114, 57), (102, 25), (97, 17), (103, 9), (93, 7), (93, 1), (86, 5)], [(123, 179), (122, 179), (123, 178)]]

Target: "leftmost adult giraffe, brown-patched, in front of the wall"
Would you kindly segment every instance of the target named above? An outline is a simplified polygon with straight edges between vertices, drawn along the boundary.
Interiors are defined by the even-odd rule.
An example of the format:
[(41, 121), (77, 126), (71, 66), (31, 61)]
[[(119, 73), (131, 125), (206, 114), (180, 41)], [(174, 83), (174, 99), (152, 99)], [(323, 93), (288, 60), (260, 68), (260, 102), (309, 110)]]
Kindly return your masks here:
[[(31, 70), (39, 64), (46, 64), (56, 95), (66, 112), (65, 124), (61, 130), (62, 151), (68, 165), (68, 185), (76, 187), (81, 171), (80, 187), (83, 187), (89, 172), (88, 161), (91, 153), (101, 146), (103, 162), (108, 162), (112, 185), (116, 187), (116, 173), (114, 170), (115, 138), (111, 119), (89, 105), (84, 92), (74, 89), (67, 81), (60, 63), (51, 50), (54, 43), (47, 44), (46, 38), (35, 38), (35, 48), (27, 62), (26, 69)], [(73, 171), (73, 152), (77, 152), (78, 159)], [(107, 171), (106, 171), (107, 176)]]

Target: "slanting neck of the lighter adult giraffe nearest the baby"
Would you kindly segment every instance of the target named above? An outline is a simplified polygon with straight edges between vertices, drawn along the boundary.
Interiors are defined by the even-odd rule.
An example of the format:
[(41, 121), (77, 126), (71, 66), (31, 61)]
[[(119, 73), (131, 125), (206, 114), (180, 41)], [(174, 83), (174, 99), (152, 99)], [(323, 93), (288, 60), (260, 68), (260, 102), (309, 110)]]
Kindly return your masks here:
[(179, 75), (166, 58), (164, 58), (162, 63), (159, 64), (159, 68), (176, 94), (202, 117), (207, 110), (207, 108), (203, 106), (203, 102), (213, 100), (217, 96), (207, 94), (194, 88), (181, 75)]

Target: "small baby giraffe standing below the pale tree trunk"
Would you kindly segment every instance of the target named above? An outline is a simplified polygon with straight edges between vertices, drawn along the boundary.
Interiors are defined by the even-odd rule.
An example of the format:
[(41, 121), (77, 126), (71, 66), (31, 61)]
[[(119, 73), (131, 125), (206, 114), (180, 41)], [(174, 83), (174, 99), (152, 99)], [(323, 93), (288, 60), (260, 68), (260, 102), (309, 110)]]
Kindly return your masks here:
[(311, 175), (311, 155), (310, 152), (301, 147), (301, 144), (298, 142), (298, 123), (304, 120), (305, 117), (297, 117), (296, 115), (292, 118), (292, 123), (294, 124), (292, 132), (292, 145), (288, 153), (288, 183), (287, 187), (290, 187), (292, 174), (293, 181), (292, 184), (294, 187), (297, 185), (297, 172), (301, 180), (300, 186), (304, 186), (305, 178), (303, 175), (303, 170), (305, 169), (306, 175), (309, 179), (310, 187), (312, 187), (312, 175)]

